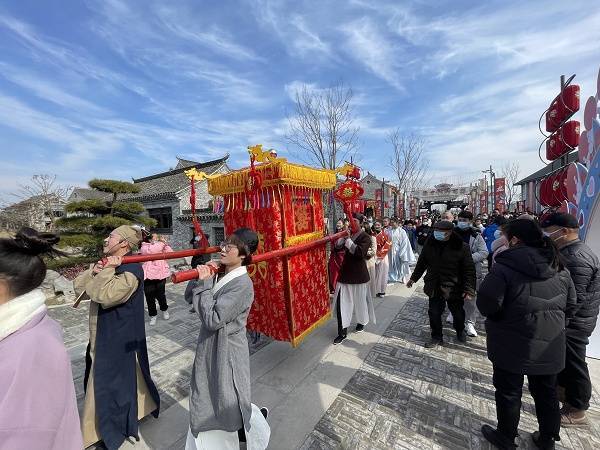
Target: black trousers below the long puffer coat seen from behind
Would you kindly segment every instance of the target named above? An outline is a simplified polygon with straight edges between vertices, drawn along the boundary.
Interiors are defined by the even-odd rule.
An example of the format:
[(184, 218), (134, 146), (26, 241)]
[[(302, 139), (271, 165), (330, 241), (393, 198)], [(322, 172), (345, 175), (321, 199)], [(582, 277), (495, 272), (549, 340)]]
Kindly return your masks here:
[[(535, 414), (542, 438), (559, 439), (560, 409), (556, 392), (556, 375), (527, 375), (529, 392), (535, 402)], [(517, 437), (521, 418), (521, 395), (524, 375), (494, 367), (496, 416), (498, 431), (509, 439)]]

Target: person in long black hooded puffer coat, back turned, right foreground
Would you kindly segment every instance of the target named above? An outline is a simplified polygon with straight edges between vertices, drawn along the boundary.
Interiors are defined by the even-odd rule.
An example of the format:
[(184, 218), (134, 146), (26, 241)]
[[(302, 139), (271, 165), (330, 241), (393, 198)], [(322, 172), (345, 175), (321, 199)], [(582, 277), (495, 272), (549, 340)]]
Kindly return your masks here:
[(527, 375), (539, 431), (538, 448), (560, 440), (557, 375), (565, 367), (565, 322), (575, 308), (575, 287), (558, 249), (532, 220), (503, 227), (509, 249), (500, 253), (477, 294), (487, 317), (488, 358), (494, 366), (498, 428), (481, 429), (499, 448), (515, 448), (523, 377)]

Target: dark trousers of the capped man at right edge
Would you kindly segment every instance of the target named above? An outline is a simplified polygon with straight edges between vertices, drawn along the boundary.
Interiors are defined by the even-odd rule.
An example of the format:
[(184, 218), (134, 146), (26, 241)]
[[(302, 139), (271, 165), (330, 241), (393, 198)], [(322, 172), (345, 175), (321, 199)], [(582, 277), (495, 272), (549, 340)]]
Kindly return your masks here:
[(567, 332), (565, 369), (558, 374), (558, 384), (565, 388), (565, 400), (579, 410), (588, 409), (592, 397), (592, 381), (585, 362), (588, 343), (587, 334)]

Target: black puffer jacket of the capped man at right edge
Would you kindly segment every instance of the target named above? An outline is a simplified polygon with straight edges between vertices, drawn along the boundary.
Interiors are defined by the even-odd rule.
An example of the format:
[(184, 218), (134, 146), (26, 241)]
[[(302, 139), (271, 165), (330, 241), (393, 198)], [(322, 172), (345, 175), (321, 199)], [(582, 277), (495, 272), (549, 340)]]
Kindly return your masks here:
[(561, 247), (560, 253), (575, 285), (577, 308), (569, 321), (567, 334), (592, 335), (600, 308), (600, 274), (598, 257), (579, 239)]

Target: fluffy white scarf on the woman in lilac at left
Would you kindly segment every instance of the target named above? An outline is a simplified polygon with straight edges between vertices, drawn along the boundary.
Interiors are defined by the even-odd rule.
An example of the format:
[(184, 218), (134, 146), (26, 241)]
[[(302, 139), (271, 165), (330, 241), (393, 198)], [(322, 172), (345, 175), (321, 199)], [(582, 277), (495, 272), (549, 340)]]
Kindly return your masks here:
[(45, 302), (42, 290), (34, 289), (0, 305), (0, 341), (20, 330), (37, 314), (45, 312)]

